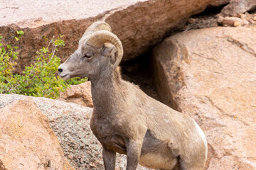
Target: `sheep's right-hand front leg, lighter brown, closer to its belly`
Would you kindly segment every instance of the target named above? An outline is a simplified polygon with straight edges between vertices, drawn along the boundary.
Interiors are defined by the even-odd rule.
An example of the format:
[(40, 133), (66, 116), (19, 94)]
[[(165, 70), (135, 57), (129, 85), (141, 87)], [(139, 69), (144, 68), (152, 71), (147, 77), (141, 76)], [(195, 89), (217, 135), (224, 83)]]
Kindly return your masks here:
[(127, 142), (127, 170), (135, 170), (139, 164), (142, 145), (139, 142), (129, 140)]

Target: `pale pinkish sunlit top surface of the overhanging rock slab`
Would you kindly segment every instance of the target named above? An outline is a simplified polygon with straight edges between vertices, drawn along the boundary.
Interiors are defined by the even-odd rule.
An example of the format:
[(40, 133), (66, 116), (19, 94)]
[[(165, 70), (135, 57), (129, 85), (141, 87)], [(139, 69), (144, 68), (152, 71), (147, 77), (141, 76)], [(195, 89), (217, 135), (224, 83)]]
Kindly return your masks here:
[[(49, 23), (64, 20), (80, 20), (97, 16), (100, 13), (111, 11), (113, 8), (122, 8), (139, 1), (90, 1), (76, 0), (63, 1), (1, 1), (1, 25), (18, 24), (21, 28), (36, 28)], [(24, 4), (26, 3), (26, 4)], [(97, 10), (96, 10), (97, 9)], [(11, 15), (8, 15), (11, 13)]]

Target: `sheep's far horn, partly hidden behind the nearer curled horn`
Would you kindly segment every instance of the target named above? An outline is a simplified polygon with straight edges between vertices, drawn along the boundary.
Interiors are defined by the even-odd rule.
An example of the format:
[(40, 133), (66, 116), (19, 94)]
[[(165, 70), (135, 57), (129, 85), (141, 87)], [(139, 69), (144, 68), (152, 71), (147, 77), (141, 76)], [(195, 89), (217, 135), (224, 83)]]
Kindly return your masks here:
[(82, 42), (85, 42), (85, 40), (87, 40), (87, 38), (89, 38), (89, 36), (92, 33), (96, 32), (98, 30), (107, 30), (107, 31), (112, 32), (110, 25), (108, 25), (104, 21), (97, 21), (95, 23), (92, 23), (92, 25), (90, 25), (85, 30), (85, 33), (82, 35), (82, 38), (79, 40), (79, 46), (82, 45)]

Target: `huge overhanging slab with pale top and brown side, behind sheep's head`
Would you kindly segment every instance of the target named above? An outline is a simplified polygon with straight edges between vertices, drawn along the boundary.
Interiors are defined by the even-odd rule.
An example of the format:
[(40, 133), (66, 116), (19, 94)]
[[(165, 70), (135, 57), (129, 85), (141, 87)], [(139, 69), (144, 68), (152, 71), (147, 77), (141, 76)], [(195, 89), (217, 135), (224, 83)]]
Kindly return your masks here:
[[(161, 42), (189, 16), (203, 11), (215, 0), (129, 0), (129, 1), (3, 1), (0, 4), (0, 33), (4, 44), (20, 50), (17, 69), (33, 61), (36, 50), (47, 47), (53, 35), (65, 35), (58, 52), (66, 60), (78, 47), (78, 40), (91, 23), (106, 21), (124, 46), (123, 60), (129, 60)], [(26, 5), (23, 5), (26, 4)], [(14, 19), (15, 18), (15, 19)], [(16, 30), (25, 35), (16, 42)]]

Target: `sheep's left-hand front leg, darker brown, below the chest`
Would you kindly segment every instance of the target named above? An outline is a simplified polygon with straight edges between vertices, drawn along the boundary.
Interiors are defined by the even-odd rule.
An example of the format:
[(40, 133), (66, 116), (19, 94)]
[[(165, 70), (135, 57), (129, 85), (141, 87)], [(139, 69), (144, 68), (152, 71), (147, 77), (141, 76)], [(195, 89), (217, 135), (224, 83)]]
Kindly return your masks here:
[(114, 170), (116, 153), (103, 147), (102, 156), (105, 170)]

